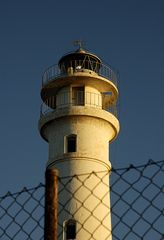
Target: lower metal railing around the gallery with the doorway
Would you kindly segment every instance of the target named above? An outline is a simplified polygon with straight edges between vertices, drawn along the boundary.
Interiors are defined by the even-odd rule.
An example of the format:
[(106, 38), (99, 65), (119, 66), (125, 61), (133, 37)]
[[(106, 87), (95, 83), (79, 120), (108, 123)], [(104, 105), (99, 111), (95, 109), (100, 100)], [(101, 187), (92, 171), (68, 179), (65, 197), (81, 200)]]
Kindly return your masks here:
[(88, 106), (99, 108), (112, 113), (117, 117), (116, 105), (104, 104), (103, 94), (76, 91), (74, 94), (70, 91), (61, 92), (59, 96), (51, 96), (41, 104), (40, 116), (45, 116), (60, 108), (71, 106)]

